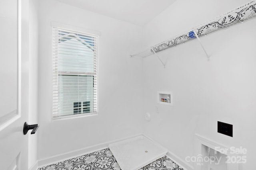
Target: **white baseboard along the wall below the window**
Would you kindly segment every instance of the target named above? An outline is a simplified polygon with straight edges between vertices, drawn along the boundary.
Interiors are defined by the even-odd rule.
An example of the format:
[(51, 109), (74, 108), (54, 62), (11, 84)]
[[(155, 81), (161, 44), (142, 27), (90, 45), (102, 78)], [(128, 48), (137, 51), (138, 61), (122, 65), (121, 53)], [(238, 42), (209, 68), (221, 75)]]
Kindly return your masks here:
[[(134, 136), (130, 136), (130, 137), (114, 140), (114, 141), (108, 141), (108, 142), (100, 143), (100, 144), (97, 144), (97, 145), (93, 145), (93, 146), (90, 146), (90, 147), (85, 147), (85, 148), (78, 149), (78, 150), (72, 150), (70, 152), (66, 152), (66, 153), (63, 153), (63, 154), (50, 156), (48, 158), (38, 160), (38, 167), (47, 166), (47, 165), (54, 164), (54, 163), (57, 163), (57, 162), (60, 162), (60, 161), (63, 161), (63, 160), (74, 158), (76, 156), (80, 156), (82, 154), (88, 154), (88, 153), (95, 152), (95, 151), (98, 151), (98, 150), (101, 150), (101, 149), (105, 149), (111, 143), (124, 141), (126, 139), (138, 137), (138, 136), (141, 136), (141, 135), (142, 134), (138, 134), (138, 135), (134, 135)], [(33, 170), (33, 169), (31, 169), (31, 170)]]

